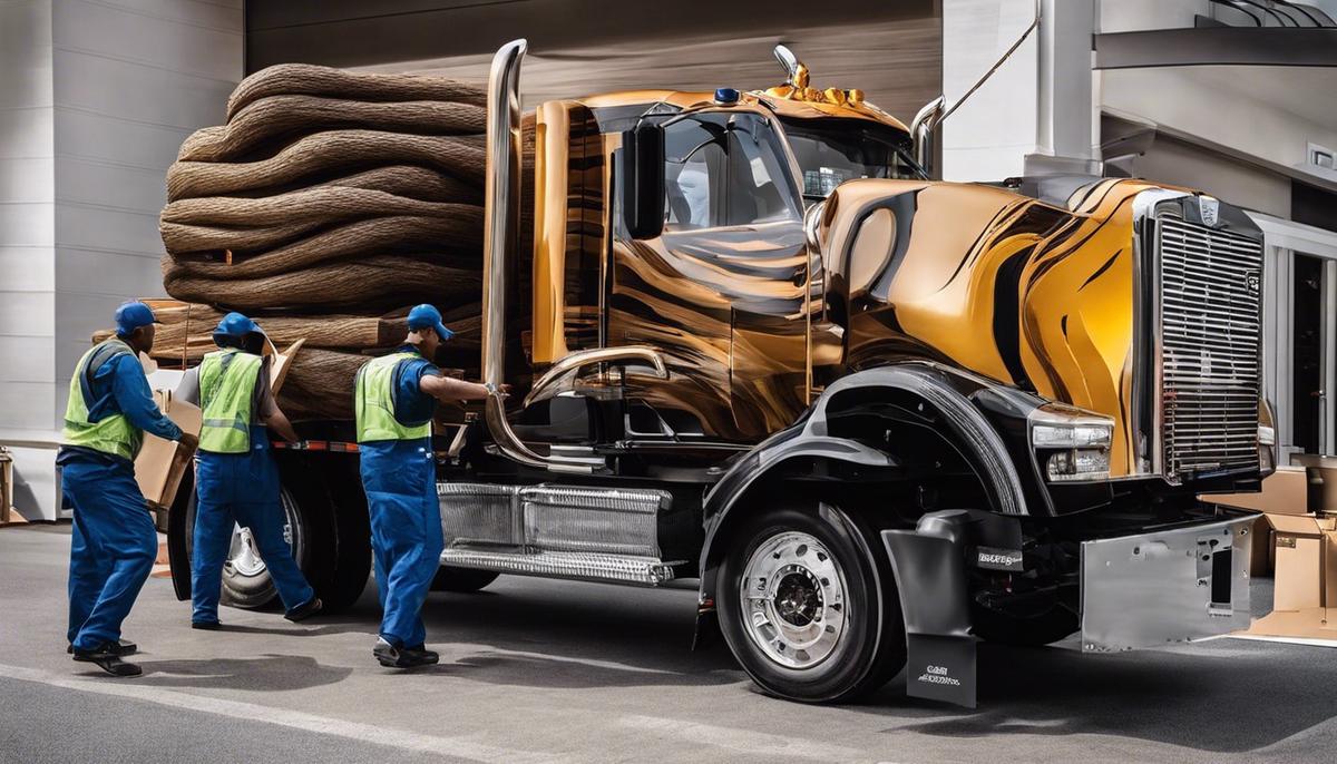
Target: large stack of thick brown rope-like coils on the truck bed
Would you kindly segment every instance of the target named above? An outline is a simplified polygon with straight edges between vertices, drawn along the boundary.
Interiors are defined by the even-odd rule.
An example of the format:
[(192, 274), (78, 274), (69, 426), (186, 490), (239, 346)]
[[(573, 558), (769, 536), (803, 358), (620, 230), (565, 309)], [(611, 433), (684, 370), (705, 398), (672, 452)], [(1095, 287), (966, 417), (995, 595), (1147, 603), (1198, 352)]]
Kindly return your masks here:
[(487, 99), (439, 77), (308, 64), (237, 85), (227, 124), (167, 172), (154, 355), (195, 362), (227, 310), (298, 353), (279, 395), (297, 418), (352, 418), (353, 377), (431, 302), (456, 331), (439, 362), (476, 374)]

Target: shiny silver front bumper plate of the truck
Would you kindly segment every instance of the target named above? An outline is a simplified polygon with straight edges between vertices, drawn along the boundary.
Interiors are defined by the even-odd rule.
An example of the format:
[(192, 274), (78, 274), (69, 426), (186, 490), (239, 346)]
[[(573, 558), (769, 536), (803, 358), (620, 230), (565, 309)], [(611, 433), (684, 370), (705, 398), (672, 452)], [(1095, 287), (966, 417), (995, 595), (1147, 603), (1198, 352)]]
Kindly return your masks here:
[(1082, 650), (1130, 650), (1247, 629), (1255, 517), (1231, 512), (1082, 542)]

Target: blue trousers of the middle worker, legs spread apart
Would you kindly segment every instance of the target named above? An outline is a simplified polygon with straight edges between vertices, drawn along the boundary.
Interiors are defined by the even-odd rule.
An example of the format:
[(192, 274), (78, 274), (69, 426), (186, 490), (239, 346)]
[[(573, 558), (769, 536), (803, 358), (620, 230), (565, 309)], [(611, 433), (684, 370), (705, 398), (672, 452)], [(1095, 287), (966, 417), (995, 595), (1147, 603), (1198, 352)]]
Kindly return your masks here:
[[(263, 381), (263, 378), (261, 378)], [(199, 451), (195, 462), (195, 546), (190, 566), (191, 621), (217, 622), (223, 562), (233, 526), (249, 528), (283, 609), (291, 612), (316, 596), (283, 541), (278, 465), (265, 425), (251, 423), (245, 454)]]

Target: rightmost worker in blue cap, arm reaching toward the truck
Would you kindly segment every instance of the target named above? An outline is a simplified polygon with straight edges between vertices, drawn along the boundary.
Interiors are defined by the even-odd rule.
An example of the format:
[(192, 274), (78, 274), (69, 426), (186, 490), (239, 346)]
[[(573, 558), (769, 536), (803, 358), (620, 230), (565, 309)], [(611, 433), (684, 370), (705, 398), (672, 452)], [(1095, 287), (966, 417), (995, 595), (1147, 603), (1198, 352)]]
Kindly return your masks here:
[(372, 516), (381, 632), (372, 654), (384, 666), (431, 665), (421, 609), (441, 564), (432, 417), (437, 401), (479, 401), (485, 385), (443, 377), (432, 363), (452, 333), (431, 305), (409, 311), (409, 334), (393, 354), (370, 361), (354, 381), (362, 488)]

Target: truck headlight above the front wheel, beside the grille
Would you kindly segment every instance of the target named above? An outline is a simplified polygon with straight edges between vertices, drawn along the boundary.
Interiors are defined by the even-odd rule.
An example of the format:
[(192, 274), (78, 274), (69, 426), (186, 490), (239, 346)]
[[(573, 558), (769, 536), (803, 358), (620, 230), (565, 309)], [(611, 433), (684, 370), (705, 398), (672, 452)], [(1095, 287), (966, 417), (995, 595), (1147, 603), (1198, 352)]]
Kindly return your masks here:
[(1114, 419), (1066, 403), (1046, 403), (1027, 419), (1031, 447), (1050, 481), (1108, 480)]

